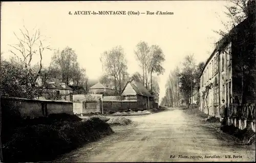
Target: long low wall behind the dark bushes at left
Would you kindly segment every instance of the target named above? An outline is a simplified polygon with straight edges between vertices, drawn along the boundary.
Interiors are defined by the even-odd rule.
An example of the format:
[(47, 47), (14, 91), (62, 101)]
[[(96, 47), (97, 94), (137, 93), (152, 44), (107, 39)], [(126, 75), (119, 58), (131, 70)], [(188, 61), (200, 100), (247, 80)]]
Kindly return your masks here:
[[(46, 107), (42, 108), (42, 105)], [(1, 109), (21, 117), (44, 117), (53, 113), (73, 114), (72, 102), (1, 97)]]

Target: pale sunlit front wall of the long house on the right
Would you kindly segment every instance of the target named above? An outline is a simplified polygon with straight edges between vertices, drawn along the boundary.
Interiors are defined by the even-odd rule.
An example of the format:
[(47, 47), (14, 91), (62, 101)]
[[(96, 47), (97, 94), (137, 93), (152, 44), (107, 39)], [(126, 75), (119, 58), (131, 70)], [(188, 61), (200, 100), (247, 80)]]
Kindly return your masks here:
[[(221, 100), (224, 99), (228, 105), (229, 94), (232, 94), (232, 66), (231, 66), (231, 43), (223, 51), (216, 51), (211, 57), (201, 75), (200, 82), (200, 110), (209, 115), (219, 117)], [(229, 54), (229, 55), (228, 55)], [(208, 93), (208, 101), (202, 98), (206, 86), (212, 83), (212, 88)], [(228, 88), (228, 89), (227, 89)], [(227, 91), (226, 91), (227, 90)], [(228, 98), (227, 98), (228, 95)], [(205, 94), (206, 96), (206, 94)]]

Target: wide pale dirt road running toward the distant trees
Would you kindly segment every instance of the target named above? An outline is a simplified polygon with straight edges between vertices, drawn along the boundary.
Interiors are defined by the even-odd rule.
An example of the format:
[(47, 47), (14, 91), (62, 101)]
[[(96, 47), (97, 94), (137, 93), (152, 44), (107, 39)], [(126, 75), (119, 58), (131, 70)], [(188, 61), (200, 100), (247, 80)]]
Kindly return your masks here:
[(56, 161), (255, 161), (251, 146), (238, 145), (229, 135), (217, 134), (178, 108), (125, 118), (134, 123), (113, 127), (114, 134)]

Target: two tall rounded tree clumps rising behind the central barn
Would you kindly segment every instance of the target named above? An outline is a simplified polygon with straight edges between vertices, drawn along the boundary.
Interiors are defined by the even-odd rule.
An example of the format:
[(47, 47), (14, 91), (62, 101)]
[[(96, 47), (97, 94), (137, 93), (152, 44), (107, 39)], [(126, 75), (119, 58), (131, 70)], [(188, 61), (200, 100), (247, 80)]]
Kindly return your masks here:
[(135, 58), (142, 68), (142, 75), (139, 72), (135, 72), (132, 75), (127, 73), (127, 61), (121, 46), (104, 51), (100, 57), (104, 72), (100, 82), (106, 85), (114, 85), (114, 89), (121, 93), (125, 83), (133, 79), (143, 83), (152, 94), (158, 95), (157, 77), (153, 76), (153, 74), (160, 75), (164, 72), (164, 68), (161, 65), (165, 60), (162, 49), (158, 45), (149, 46), (146, 42), (141, 41), (136, 46)]

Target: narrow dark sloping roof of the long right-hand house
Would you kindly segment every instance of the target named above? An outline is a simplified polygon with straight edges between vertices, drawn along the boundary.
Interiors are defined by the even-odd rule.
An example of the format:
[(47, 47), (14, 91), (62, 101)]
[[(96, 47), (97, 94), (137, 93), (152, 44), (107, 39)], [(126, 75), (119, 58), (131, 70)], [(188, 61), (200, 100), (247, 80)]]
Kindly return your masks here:
[(230, 31), (229, 33), (222, 37), (222, 39), (220, 39), (218, 42), (217, 42), (217, 47), (214, 49), (214, 51), (212, 51), (210, 57), (207, 59), (205, 65), (204, 65), (204, 68), (200, 74), (200, 77), (202, 76), (206, 66), (208, 65), (209, 61), (211, 60), (212, 57), (214, 57), (215, 53), (220, 51), (220, 50), (223, 50), (227, 45), (228, 43), (231, 42), (231, 38), (237, 34), (237, 30), (240, 29), (243, 25), (245, 25), (246, 23), (248, 23), (248, 19), (245, 19), (243, 20), (242, 22), (240, 22), (237, 26), (234, 26)]

